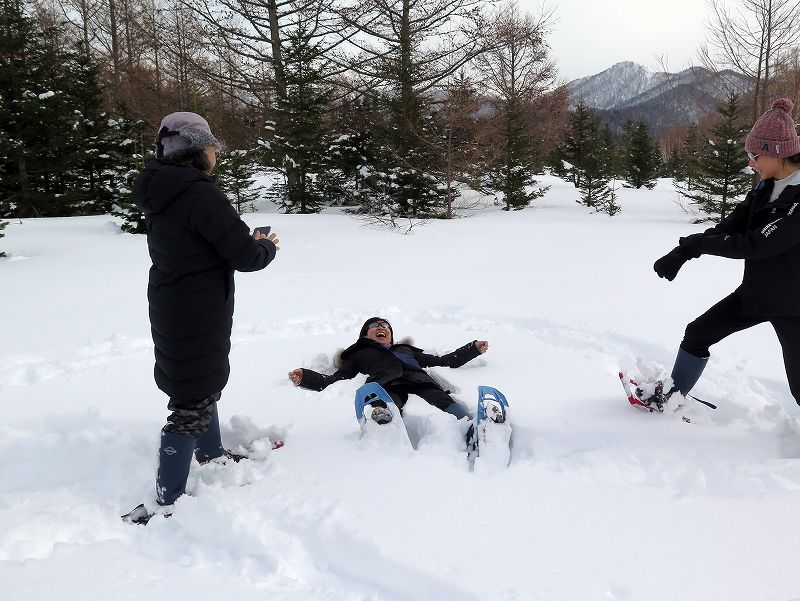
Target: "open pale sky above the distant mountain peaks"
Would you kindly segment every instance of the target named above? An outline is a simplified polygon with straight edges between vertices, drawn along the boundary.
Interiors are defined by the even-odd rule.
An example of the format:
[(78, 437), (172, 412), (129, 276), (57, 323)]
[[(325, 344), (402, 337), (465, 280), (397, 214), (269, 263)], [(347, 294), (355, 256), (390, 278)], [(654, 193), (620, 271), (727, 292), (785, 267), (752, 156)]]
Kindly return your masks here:
[[(518, 0), (539, 12), (542, 0)], [(545, 0), (558, 21), (550, 35), (559, 75), (569, 81), (631, 60), (660, 70), (665, 55), (670, 71), (697, 64), (705, 39), (705, 0)]]

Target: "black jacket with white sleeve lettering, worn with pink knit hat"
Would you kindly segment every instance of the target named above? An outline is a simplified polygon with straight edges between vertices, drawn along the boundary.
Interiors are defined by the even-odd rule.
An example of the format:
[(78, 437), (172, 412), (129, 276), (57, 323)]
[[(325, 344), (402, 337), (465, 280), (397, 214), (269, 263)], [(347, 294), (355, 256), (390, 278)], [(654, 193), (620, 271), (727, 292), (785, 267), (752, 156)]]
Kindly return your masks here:
[(745, 260), (736, 292), (748, 315), (800, 315), (800, 186), (769, 202), (774, 184), (760, 182), (700, 243), (702, 254)]

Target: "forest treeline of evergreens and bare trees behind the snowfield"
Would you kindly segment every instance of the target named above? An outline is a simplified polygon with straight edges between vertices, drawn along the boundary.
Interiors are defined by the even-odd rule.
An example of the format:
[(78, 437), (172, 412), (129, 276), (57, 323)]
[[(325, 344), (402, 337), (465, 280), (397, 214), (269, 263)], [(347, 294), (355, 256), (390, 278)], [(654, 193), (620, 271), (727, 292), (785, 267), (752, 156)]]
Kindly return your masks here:
[[(636, 122), (612, 139), (559, 81), (548, 45), (555, 9), (529, 14), (483, 0), (0, 0), (0, 217), (113, 212), (141, 231), (132, 178), (152, 158), (161, 117), (177, 110), (202, 114), (224, 141), (219, 183), (240, 211), (265, 194), (252, 185), (257, 172), (278, 176), (268, 194), (287, 212), (343, 206), (394, 223), (453, 217), (465, 208), (465, 186), (507, 210), (524, 208), (550, 169), (598, 211), (618, 210), (617, 184), (652, 187), (672, 176), (718, 216), (747, 178), (723, 192), (709, 178), (720, 169), (742, 175), (754, 115), (775, 96), (798, 96), (800, 27), (775, 25), (778, 16), (797, 25), (789, 22), (797, 5), (769, 0), (783, 12), (759, 13), (747, 32), (719, 7), (701, 57), (745, 73), (752, 90), (732, 91), (700, 123), (658, 139)], [(729, 165), (712, 165), (715, 136), (732, 136)]]

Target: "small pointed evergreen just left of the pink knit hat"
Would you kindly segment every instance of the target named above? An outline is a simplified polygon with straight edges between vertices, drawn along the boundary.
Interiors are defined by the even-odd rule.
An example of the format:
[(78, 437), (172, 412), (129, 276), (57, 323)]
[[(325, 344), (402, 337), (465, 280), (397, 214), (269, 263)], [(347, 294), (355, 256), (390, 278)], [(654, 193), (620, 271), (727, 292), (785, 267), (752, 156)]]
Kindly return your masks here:
[(739, 94), (731, 92), (717, 112), (720, 119), (711, 128), (711, 139), (701, 152), (700, 171), (693, 186), (679, 189), (714, 220), (725, 219), (737, 204), (737, 198), (747, 194), (751, 187), (750, 176), (744, 173), (742, 148), (747, 130), (740, 125)]

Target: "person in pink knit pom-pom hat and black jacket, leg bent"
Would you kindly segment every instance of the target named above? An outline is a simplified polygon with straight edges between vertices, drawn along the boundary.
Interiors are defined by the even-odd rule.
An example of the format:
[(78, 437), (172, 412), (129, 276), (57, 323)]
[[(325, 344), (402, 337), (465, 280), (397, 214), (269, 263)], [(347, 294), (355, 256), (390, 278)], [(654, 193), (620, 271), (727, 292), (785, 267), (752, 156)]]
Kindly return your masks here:
[[(686, 261), (700, 255), (744, 259), (742, 284), (686, 327), (670, 393), (685, 396), (692, 389), (709, 347), (770, 322), (783, 349), (789, 388), (800, 403), (800, 139), (792, 108), (790, 100), (776, 100), (747, 136), (749, 164), (763, 178), (758, 186), (729, 217), (681, 238), (653, 266), (659, 277), (672, 281)], [(666, 398), (648, 401), (660, 405)]]

